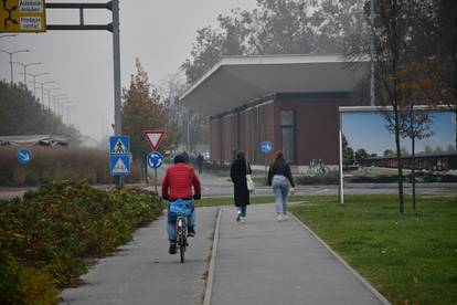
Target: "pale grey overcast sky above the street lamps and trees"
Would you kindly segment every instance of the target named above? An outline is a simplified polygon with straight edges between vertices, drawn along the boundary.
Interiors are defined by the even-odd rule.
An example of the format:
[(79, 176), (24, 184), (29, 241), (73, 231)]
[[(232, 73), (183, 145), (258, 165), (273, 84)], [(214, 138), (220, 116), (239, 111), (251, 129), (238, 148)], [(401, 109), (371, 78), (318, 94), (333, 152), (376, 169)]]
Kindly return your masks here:
[[(106, 2), (84, 1), (84, 2)], [(83, 2), (83, 1), (47, 1)], [(256, 0), (120, 0), (120, 61), (123, 86), (128, 85), (138, 56), (153, 84), (176, 73), (189, 56), (196, 30), (216, 24), (220, 13), (227, 14), (240, 7), (252, 10)], [(47, 11), (47, 23), (76, 23), (77, 11)], [(109, 11), (87, 13), (88, 23), (110, 22)], [(76, 108), (72, 122), (83, 134), (102, 139), (110, 133), (114, 122), (113, 40), (109, 32), (50, 31), (25, 33), (0, 39), (0, 49), (9, 52), (29, 49), (15, 54), (13, 61), (43, 62), (30, 66), (28, 73), (50, 72), (41, 81), (55, 81), (49, 87), (62, 87), (55, 94), (67, 94)], [(14, 81), (23, 70), (14, 65)], [(10, 80), (9, 55), (0, 53), (0, 78)], [(31, 80), (31, 77), (30, 77)], [(23, 82), (23, 81), (22, 81)], [(33, 84), (30, 86), (33, 91)], [(36, 92), (41, 96), (40, 91)], [(47, 101), (46, 97), (44, 98)]]

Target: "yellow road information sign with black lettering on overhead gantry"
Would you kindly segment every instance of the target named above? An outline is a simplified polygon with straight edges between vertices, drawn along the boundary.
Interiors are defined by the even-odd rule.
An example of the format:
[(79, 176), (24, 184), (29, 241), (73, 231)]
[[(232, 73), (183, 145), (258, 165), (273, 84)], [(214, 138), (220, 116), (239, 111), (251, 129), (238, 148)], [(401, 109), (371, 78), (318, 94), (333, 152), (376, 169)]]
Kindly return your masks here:
[(1, 32), (45, 32), (44, 0), (0, 0)]

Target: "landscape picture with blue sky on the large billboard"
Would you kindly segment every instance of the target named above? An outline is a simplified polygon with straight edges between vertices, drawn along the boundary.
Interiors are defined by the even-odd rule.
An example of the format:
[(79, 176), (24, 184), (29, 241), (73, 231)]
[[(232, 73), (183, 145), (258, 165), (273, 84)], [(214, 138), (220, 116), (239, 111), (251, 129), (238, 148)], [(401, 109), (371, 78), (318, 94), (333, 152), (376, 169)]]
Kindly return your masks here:
[[(449, 111), (429, 111), (428, 136), (415, 140), (414, 168), (436, 175), (457, 175), (455, 170), (456, 119)], [(341, 113), (342, 155), (347, 177), (392, 176), (397, 169), (395, 136), (380, 111), (344, 109)], [(405, 173), (412, 169), (412, 141), (401, 139)]]

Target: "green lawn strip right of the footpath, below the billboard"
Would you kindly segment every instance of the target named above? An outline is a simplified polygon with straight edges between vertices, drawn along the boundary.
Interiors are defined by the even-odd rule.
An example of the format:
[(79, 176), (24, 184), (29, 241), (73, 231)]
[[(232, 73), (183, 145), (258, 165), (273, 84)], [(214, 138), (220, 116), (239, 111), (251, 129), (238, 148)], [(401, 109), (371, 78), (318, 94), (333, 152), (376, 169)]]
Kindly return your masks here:
[(393, 304), (456, 304), (457, 198), (308, 197), (291, 211)]

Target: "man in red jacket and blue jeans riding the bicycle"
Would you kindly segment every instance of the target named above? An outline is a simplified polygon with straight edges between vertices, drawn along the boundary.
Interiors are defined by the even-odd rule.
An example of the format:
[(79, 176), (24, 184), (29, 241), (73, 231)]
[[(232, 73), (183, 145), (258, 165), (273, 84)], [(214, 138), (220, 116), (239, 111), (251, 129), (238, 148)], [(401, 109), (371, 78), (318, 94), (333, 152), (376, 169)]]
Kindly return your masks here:
[[(192, 194), (193, 187), (193, 194)], [(185, 158), (182, 155), (174, 157), (174, 165), (167, 170), (162, 180), (162, 198), (170, 202), (177, 199), (188, 200), (192, 206), (192, 214), (188, 217), (188, 236), (195, 235), (195, 210), (193, 208), (193, 199), (201, 198), (200, 180), (196, 177), (192, 167), (185, 164)], [(167, 231), (170, 241), (170, 254), (177, 253), (177, 215), (170, 212), (170, 204), (168, 206), (168, 222)]]

